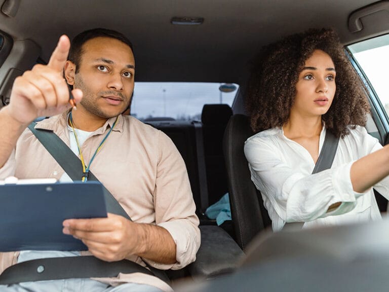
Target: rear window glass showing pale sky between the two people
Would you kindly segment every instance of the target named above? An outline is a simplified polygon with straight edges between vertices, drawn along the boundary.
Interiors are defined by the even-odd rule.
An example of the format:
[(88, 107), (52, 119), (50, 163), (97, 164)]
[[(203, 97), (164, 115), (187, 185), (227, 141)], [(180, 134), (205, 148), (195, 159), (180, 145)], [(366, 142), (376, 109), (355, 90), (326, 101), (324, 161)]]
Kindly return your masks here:
[[(220, 86), (230, 92), (220, 91)], [(131, 115), (139, 120), (201, 120), (204, 104), (231, 106), (238, 88), (224, 83), (136, 82)]]

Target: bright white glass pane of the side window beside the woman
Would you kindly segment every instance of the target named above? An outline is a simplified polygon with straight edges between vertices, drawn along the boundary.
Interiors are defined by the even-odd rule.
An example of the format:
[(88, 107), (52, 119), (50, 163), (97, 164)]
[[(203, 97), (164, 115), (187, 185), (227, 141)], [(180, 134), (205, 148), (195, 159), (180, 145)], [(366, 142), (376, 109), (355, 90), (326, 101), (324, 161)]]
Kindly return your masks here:
[(389, 34), (348, 46), (389, 115)]

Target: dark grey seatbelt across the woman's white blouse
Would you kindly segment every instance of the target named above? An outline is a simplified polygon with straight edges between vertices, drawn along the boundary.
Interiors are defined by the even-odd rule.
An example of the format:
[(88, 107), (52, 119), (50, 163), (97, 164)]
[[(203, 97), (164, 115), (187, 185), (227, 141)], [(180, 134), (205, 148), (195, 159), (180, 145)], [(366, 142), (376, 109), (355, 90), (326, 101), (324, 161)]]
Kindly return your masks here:
[[(312, 174), (318, 173), (322, 170), (331, 168), (334, 161), (336, 149), (338, 148), (339, 137), (335, 137), (328, 129), (326, 130), (326, 137), (324, 138), (323, 148), (320, 152), (318, 161), (312, 171)], [(283, 230), (297, 231), (302, 229), (304, 222), (287, 222)]]

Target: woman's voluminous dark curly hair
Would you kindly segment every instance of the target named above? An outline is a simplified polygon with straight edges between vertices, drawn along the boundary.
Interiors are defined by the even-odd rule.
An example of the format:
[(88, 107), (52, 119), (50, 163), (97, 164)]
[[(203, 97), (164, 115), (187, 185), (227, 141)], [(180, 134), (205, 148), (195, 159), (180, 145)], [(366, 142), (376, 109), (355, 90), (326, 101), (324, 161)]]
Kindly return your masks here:
[(315, 50), (326, 52), (335, 65), (336, 92), (322, 116), (326, 129), (344, 137), (351, 126), (365, 126), (370, 111), (366, 88), (348, 61), (333, 29), (309, 29), (260, 50), (246, 94), (246, 109), (254, 132), (283, 126), (289, 119), (298, 76)]

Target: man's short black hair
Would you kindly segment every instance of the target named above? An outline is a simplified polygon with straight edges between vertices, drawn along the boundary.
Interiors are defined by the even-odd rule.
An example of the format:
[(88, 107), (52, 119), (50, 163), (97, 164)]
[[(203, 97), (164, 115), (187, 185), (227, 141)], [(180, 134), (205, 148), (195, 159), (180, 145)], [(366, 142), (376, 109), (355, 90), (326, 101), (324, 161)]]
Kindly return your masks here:
[(71, 47), (69, 51), (68, 60), (73, 62), (75, 64), (75, 72), (77, 73), (80, 67), (81, 57), (83, 54), (83, 45), (88, 42), (89, 40), (104, 37), (104, 38), (111, 38), (118, 41), (121, 41), (125, 43), (127, 46), (131, 48), (131, 51), (134, 52), (132, 43), (130, 42), (127, 37), (115, 30), (112, 29), (106, 29), (106, 28), (94, 28), (89, 29), (86, 31), (83, 31), (76, 36), (74, 36)]

